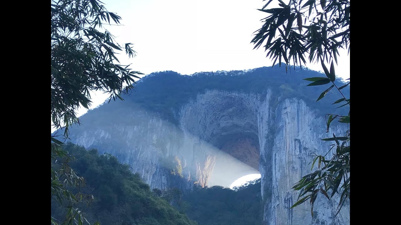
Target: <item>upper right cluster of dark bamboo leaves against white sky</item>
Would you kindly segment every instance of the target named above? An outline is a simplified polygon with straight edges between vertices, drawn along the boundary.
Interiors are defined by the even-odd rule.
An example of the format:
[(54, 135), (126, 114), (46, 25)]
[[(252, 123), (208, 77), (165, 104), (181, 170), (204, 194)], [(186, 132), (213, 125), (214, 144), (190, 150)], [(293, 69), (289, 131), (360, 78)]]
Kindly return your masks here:
[[(269, 16), (263, 19), (263, 26), (251, 41), (254, 48), (265, 43), (266, 57), (273, 58), (273, 64), (277, 59), (280, 66), (283, 60), (286, 68), (291, 60), (294, 66), (306, 64), (305, 54), (309, 54), (310, 62), (318, 62), (322, 57), (337, 62), (338, 48), (348, 48), (349, 52), (349, 0), (321, 0), (320, 6), (317, 0), (305, 4), (301, 4), (302, 0), (290, 0), (288, 4), (278, 1), (279, 8), (267, 8), (272, 2), (269, 0), (259, 9)], [(334, 81), (335, 74), (329, 78)]]

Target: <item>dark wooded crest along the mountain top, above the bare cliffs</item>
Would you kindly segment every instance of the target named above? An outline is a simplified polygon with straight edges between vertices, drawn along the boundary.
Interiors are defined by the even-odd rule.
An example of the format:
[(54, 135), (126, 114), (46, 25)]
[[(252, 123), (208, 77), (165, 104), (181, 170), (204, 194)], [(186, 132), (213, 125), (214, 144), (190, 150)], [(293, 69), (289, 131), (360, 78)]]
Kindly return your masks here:
[[(317, 96), (322, 92), (321, 88), (308, 88), (306, 87), (308, 82), (302, 80), (302, 78), (311, 76), (321, 76), (321, 73), (306, 68), (301, 70), (299, 67), (296, 67), (295, 70), (291, 68), (286, 73), (284, 68), (278, 66), (255, 68), (248, 71), (199, 72), (192, 75), (181, 75), (173, 71), (156, 72), (142, 78), (135, 85), (135, 94), (126, 96), (125, 102), (110, 102), (108, 105), (104, 104), (102, 109), (124, 108), (124, 110), (129, 110), (130, 107), (141, 106), (174, 123), (176, 122), (174, 114), (178, 112), (180, 106), (206, 90), (256, 93), (264, 98), (267, 90), (271, 89), (275, 97), (272, 99), (272, 104), (278, 104), (286, 98), (296, 97), (304, 99), (308, 103), (314, 103), (309, 105), (320, 109), (322, 115), (341, 110), (335, 110), (334, 106), (328, 107), (340, 98), (336, 92), (329, 92), (324, 99), (316, 102)], [(343, 84), (341, 79), (336, 80), (336, 83), (340, 86)], [(343, 90), (348, 93), (349, 87)], [(85, 116), (83, 118), (90, 119)]]

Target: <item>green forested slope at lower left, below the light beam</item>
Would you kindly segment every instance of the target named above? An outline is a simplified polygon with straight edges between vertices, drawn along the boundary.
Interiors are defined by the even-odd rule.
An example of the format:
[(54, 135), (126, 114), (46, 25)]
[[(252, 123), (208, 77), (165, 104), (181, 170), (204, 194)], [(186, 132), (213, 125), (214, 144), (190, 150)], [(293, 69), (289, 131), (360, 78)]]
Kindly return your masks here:
[[(77, 174), (85, 177), (84, 194), (93, 195), (92, 201), (82, 205), (84, 217), (102, 225), (195, 225), (166, 200), (150, 191), (138, 174), (121, 164), (112, 155), (98, 155), (96, 149), (86, 151), (71, 143), (64, 146), (76, 161), (70, 162)], [(55, 165), (52, 165), (55, 166)], [(77, 192), (77, 190), (71, 190)], [(89, 198), (91, 199), (91, 198)], [(54, 201), (52, 199), (52, 201)], [(66, 209), (52, 204), (52, 217), (63, 221)], [(67, 209), (68, 210), (68, 209)]]

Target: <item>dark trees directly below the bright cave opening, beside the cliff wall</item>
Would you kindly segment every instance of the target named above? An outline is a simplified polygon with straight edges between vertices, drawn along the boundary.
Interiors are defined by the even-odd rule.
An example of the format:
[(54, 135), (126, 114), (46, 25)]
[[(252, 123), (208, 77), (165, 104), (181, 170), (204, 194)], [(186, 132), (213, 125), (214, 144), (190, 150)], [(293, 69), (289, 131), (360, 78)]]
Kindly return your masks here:
[(174, 205), (200, 225), (260, 225), (263, 215), (260, 190), (260, 179), (234, 190), (197, 187)]

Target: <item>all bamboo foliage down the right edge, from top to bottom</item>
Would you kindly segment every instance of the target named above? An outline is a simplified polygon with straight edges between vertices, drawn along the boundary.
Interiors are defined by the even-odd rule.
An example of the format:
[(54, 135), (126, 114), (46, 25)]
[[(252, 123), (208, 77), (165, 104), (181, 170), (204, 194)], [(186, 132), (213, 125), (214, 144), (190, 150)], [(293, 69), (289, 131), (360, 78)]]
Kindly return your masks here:
[[(304, 80), (311, 82), (307, 86), (329, 83), (332, 85), (319, 95), (316, 102), (327, 96), (329, 91), (335, 87), (342, 98), (335, 100), (332, 104), (343, 103), (337, 108), (350, 107), (350, 98), (346, 98), (343, 91), (343, 88), (350, 82), (338, 87), (335, 83), (334, 70), (338, 49), (347, 48), (348, 53), (350, 51), (350, 1), (321, 0), (320, 4), (317, 4), (316, 0), (308, 0), (301, 4), (302, 0), (290, 0), (288, 4), (285, 4), (279, 0), (280, 8), (267, 8), (271, 1), (269, 0), (260, 9), (269, 16), (263, 19), (262, 28), (256, 31), (255, 37), (251, 41), (255, 44), (255, 48), (261, 46), (267, 39), (264, 46), (265, 50), (269, 51), (267, 56), (273, 58), (274, 63), (278, 59), (279, 66), (284, 59), (286, 70), (291, 59), (294, 68), (295, 65), (306, 64), (306, 54), (309, 55), (310, 62), (319, 62), (320, 60), (326, 77), (311, 77)], [(304, 28), (306, 30), (302, 32)], [(331, 62), (330, 70), (325, 65), (325, 60), (328, 63)], [(350, 123), (349, 110), (348, 114), (330, 113), (326, 116), (328, 117), (327, 132), (329, 132), (330, 124), (336, 118), (340, 123)], [(294, 190), (299, 191), (299, 195), (298, 201), (291, 208), (310, 199), (312, 217), (313, 205), (318, 193), (331, 199), (336, 193), (339, 193), (338, 188), (342, 190), (337, 214), (345, 201), (350, 198), (350, 130), (346, 131), (344, 137), (336, 137), (333, 134), (333, 138), (322, 139), (322, 141), (334, 141), (335, 144), (331, 145), (332, 148), (326, 155), (318, 155), (314, 158), (312, 170), (316, 161), (318, 170), (302, 177), (293, 187)], [(329, 192), (331, 192), (330, 196)]]

